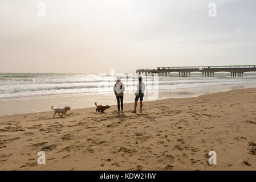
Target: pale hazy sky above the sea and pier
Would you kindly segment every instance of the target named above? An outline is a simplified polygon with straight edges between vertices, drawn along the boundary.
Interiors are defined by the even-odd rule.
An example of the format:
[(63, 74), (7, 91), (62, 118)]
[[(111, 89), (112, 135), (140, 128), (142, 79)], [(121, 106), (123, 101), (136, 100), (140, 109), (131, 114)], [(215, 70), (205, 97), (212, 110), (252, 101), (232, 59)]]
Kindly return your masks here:
[(256, 64), (255, 17), (255, 0), (1, 0), (0, 72)]

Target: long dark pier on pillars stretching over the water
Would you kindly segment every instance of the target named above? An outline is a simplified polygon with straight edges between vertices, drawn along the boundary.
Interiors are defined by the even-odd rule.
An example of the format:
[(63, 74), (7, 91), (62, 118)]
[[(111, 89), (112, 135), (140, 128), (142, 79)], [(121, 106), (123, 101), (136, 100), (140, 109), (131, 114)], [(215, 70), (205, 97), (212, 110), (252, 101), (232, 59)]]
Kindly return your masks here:
[(137, 75), (145, 76), (170, 76), (170, 73), (177, 72), (180, 77), (189, 77), (192, 72), (201, 72), (202, 77), (214, 77), (216, 72), (229, 72), (230, 76), (243, 77), (245, 72), (256, 72), (256, 65), (229, 65), (209, 67), (157, 67), (156, 69), (137, 69)]

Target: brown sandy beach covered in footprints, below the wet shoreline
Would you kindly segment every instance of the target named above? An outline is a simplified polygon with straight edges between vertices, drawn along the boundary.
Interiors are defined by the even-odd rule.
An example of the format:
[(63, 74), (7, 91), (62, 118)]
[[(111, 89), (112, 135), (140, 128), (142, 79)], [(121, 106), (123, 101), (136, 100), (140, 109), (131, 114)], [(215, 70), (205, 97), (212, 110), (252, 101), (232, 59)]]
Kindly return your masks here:
[[(256, 169), (256, 88), (144, 102), (143, 114), (124, 108), (0, 117), (0, 169)], [(45, 165), (37, 164), (40, 150)], [(217, 165), (208, 164), (211, 150)]]

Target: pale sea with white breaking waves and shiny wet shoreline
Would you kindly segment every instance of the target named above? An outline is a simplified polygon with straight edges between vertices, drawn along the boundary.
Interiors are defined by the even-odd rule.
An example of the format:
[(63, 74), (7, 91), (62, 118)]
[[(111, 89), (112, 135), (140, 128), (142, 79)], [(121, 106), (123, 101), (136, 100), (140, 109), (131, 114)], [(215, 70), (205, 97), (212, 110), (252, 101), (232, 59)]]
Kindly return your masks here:
[[(146, 85), (145, 101), (197, 97), (256, 85), (255, 72), (244, 73), (242, 78), (231, 78), (230, 73), (215, 73), (214, 77), (202, 77), (201, 73), (190, 73), (190, 77), (178, 77), (177, 73), (141, 76)], [(124, 102), (134, 102), (136, 73), (0, 73), (0, 106), (17, 108), (17, 111), (4, 109), (0, 115), (48, 111), (51, 105), (92, 107), (95, 101), (115, 105), (113, 85), (117, 77), (125, 85)], [(42, 102), (42, 107), (34, 106), (32, 101), (39, 105)]]

